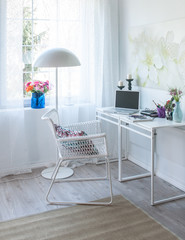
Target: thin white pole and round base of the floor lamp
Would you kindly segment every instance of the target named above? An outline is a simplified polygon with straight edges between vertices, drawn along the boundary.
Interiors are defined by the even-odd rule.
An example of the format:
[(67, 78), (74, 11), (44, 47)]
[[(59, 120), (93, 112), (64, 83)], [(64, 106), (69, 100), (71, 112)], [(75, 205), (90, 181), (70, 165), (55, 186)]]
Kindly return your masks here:
[[(58, 68), (56, 68), (56, 110), (58, 112)], [(58, 160), (58, 148), (57, 148), (57, 160)], [(41, 172), (41, 176), (46, 179), (52, 179), (55, 167), (46, 168)], [(68, 167), (60, 167), (57, 173), (56, 179), (64, 179), (71, 177), (74, 174), (73, 169)]]

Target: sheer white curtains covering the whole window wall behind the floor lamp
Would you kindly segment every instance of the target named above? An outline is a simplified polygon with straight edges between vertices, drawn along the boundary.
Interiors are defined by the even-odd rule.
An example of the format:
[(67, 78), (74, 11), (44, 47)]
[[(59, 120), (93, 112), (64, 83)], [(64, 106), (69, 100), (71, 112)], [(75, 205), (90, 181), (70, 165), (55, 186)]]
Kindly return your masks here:
[[(49, 47), (67, 48), (81, 62), (59, 70), (62, 123), (94, 119), (97, 106), (114, 104), (118, 0), (0, 0), (0, 176), (55, 163), (52, 138), (40, 120), (48, 109), (24, 108), (24, 101), (30, 102), (24, 84), (30, 80), (51, 80), (46, 99), (54, 106), (55, 71), (32, 68), (36, 56)], [(115, 139), (114, 130), (106, 130)]]

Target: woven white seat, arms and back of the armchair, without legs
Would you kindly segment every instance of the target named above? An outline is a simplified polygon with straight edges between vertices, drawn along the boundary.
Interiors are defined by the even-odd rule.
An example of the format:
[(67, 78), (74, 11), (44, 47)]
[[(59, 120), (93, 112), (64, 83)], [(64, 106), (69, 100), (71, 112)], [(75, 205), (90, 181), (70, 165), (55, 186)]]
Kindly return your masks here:
[[(105, 136), (100, 136), (100, 121), (93, 120), (62, 126), (62, 129), (65, 129), (65, 131), (70, 134), (62, 134), (61, 136), (58, 136), (59, 132), (56, 131), (56, 125), (59, 126), (60, 121), (56, 109), (52, 109), (49, 112), (45, 113), (41, 119), (47, 120), (47, 123), (52, 131), (52, 135), (55, 139), (60, 158), (67, 160), (79, 159), (79, 157), (90, 158), (100, 155), (107, 156)], [(90, 137), (88, 138), (87, 135)], [(76, 138), (74, 140), (75, 136)]]

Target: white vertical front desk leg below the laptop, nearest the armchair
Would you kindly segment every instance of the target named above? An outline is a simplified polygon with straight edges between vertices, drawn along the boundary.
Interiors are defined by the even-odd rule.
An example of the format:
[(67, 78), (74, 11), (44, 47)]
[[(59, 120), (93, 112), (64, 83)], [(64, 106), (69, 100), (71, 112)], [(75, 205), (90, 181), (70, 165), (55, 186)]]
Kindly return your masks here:
[(121, 120), (118, 120), (118, 179), (121, 182), (122, 179), (122, 129)]

